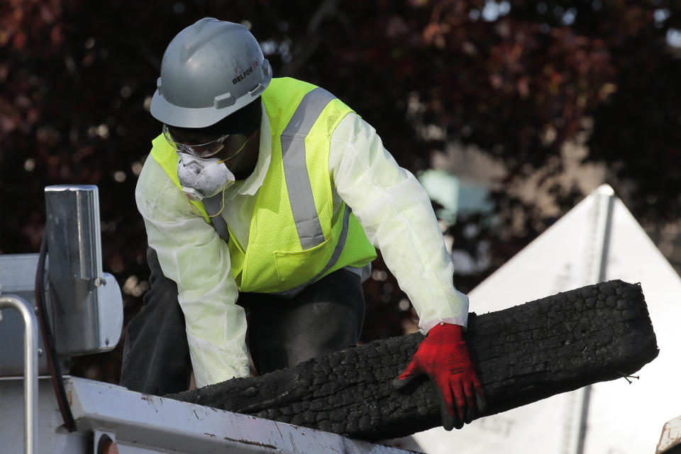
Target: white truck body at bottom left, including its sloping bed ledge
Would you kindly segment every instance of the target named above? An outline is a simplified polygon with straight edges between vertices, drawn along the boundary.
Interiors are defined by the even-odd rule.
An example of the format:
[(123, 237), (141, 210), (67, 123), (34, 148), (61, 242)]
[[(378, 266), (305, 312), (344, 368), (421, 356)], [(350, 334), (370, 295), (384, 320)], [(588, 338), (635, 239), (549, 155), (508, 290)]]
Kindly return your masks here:
[[(120, 454), (348, 453), (404, 454), (408, 451), (352, 440), (335, 433), (278, 423), (230, 411), (132, 392), (124, 387), (65, 377), (78, 430), (67, 433), (48, 379), (41, 379), (38, 433), (40, 452), (97, 453), (102, 437)], [(23, 451), (21, 379), (0, 380), (0, 440), (3, 453)], [(93, 436), (94, 434), (94, 436)]]

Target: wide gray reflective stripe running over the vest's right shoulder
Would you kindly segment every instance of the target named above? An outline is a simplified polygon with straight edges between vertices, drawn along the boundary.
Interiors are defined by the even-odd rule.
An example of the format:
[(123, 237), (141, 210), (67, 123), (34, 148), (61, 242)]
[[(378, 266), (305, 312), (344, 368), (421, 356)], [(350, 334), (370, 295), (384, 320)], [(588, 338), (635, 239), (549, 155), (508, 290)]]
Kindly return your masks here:
[(281, 136), (289, 203), (303, 249), (313, 248), (324, 241), (305, 162), (305, 138), (326, 104), (335, 97), (319, 87), (303, 96)]

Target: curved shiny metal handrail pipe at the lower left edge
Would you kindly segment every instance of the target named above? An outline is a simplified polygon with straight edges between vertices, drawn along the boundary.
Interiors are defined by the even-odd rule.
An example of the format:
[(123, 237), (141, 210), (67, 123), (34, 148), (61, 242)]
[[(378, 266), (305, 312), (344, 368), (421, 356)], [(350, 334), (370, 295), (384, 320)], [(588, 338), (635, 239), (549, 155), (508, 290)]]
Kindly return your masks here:
[(38, 321), (26, 299), (0, 297), (0, 309), (13, 308), (23, 316), (23, 452), (38, 453)]

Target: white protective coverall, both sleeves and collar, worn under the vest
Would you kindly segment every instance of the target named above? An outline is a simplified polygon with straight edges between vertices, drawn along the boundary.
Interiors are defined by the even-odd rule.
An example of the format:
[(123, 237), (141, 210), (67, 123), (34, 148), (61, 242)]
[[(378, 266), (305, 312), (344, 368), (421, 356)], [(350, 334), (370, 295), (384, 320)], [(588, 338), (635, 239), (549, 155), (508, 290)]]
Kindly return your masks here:
[[(248, 244), (255, 197), (271, 152), (263, 106), (255, 171), (226, 189), (221, 213), (242, 245)], [(345, 116), (333, 132), (328, 171), (334, 213), (341, 199), (353, 210), (414, 305), (421, 330), (427, 332), (441, 321), (466, 326), (468, 299), (453, 285), (452, 260), (428, 195), (358, 115)], [(227, 244), (192, 210), (153, 157), (145, 161), (135, 197), (163, 274), (177, 282), (196, 386), (247, 377), (245, 312), (236, 304), (238, 289)]]

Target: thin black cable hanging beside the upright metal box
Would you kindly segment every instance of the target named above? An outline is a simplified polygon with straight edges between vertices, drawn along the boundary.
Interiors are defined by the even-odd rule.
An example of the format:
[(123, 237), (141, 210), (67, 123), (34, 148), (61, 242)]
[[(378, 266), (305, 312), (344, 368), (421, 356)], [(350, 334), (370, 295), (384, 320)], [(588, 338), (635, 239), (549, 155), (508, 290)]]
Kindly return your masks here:
[(64, 377), (62, 377), (62, 368), (59, 365), (59, 358), (57, 358), (57, 349), (55, 348), (55, 338), (52, 336), (52, 329), (48, 321), (48, 311), (45, 304), (45, 258), (48, 255), (48, 228), (45, 226), (45, 233), (43, 240), (40, 243), (40, 255), (38, 255), (38, 270), (35, 272), (35, 301), (38, 303), (38, 321), (40, 323), (40, 332), (43, 334), (43, 344), (45, 345), (45, 354), (48, 358), (48, 365), (52, 374), (52, 385), (55, 387), (55, 395), (57, 397), (57, 404), (64, 420), (64, 426), (67, 431), (73, 432), (76, 430), (76, 421), (73, 419), (69, 400), (66, 397), (66, 390), (64, 389)]

